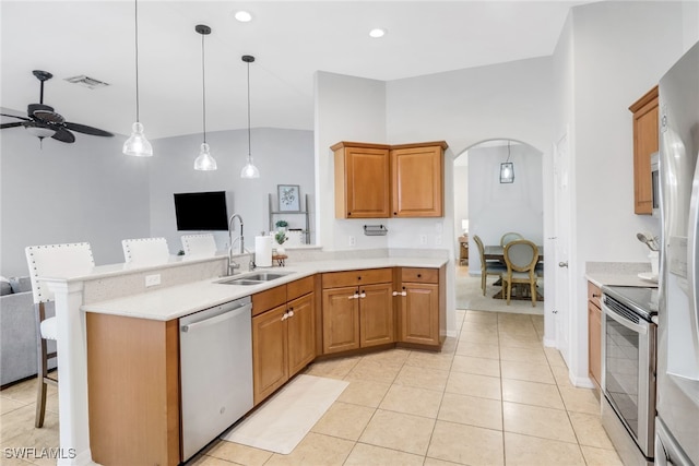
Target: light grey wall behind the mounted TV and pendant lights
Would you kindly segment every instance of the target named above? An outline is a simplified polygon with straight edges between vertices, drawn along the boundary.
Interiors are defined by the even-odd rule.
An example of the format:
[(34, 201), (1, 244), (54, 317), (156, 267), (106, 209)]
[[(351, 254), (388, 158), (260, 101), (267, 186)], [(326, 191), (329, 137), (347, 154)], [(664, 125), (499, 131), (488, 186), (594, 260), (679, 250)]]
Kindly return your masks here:
[[(226, 191), (228, 215), (238, 213), (242, 216), (245, 246), (251, 251), (254, 249), (254, 236), (270, 230), (268, 194), (274, 194), (276, 210), (277, 184), (299, 184), (301, 196), (309, 194), (313, 212), (312, 132), (253, 128), (250, 141), (252, 158), (260, 170), (260, 178), (254, 180), (240, 178), (240, 169), (248, 155), (247, 130), (206, 134), (211, 154), (218, 166), (216, 171), (193, 169), (202, 142), (201, 134), (165, 138), (153, 142), (153, 151), (158, 156), (149, 160), (151, 236), (165, 237), (170, 253), (176, 254), (181, 249), (182, 235), (193, 232), (177, 231), (173, 200), (176, 192)], [(282, 218), (289, 223), (289, 228), (305, 228), (303, 215), (275, 216), (275, 220)], [(235, 228), (237, 231), (237, 222)], [(217, 231), (214, 235), (218, 249), (225, 250), (228, 246), (227, 232)]]

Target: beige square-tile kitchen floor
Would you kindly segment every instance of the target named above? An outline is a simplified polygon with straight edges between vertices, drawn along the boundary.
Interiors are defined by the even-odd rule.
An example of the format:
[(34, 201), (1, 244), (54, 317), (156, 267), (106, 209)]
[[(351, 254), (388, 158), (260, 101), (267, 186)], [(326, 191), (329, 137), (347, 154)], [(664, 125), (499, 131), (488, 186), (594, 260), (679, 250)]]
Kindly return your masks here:
[[(192, 462), (215, 465), (620, 465), (591, 390), (576, 389), (543, 318), (457, 311), (439, 354), (393, 349), (313, 363), (347, 389), (289, 455), (217, 441)], [(34, 381), (0, 392), (0, 446), (56, 446), (57, 396), (34, 429)], [(24, 465), (8, 459), (0, 464)], [(34, 464), (51, 464), (37, 461)]]

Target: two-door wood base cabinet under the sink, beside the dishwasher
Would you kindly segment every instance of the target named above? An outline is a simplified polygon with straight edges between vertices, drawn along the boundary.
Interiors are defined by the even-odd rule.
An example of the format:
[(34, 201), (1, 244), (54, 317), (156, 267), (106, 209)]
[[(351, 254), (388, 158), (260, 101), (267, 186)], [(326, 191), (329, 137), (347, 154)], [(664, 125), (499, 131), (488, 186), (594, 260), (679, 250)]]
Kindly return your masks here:
[(252, 295), (256, 405), (316, 358), (313, 300), (312, 277)]

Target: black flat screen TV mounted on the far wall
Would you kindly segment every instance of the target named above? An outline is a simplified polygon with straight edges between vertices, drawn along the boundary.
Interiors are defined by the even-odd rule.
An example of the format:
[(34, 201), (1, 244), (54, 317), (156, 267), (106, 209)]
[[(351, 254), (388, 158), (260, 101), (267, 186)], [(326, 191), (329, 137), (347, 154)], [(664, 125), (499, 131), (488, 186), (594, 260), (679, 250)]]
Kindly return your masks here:
[(177, 230), (227, 230), (226, 192), (175, 193)]

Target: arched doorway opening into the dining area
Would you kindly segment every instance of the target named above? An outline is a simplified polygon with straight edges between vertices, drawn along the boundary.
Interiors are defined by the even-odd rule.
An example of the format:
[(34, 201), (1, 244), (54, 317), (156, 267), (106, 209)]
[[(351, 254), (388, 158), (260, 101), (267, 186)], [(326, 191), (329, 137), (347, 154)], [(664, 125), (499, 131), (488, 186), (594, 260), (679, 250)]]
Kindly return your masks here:
[[(500, 179), (501, 164), (511, 163), (511, 182)], [(521, 141), (498, 139), (483, 141), (462, 151), (454, 158), (454, 238), (457, 309), (500, 310), (544, 314), (544, 303), (532, 308), (530, 302), (507, 306), (496, 300), (497, 277), (488, 277), (486, 296), (481, 289), (481, 258), (473, 236), (486, 244), (499, 244), (503, 234), (517, 231), (536, 244), (544, 244), (544, 154)], [(467, 228), (467, 266), (461, 261), (463, 238)], [(475, 278), (467, 282), (469, 277)], [(464, 285), (464, 284), (469, 285)], [(541, 282), (543, 288), (543, 280)], [(465, 288), (467, 286), (467, 289)], [(495, 289), (495, 292), (494, 292)], [(542, 290), (543, 295), (543, 290)], [(478, 309), (482, 308), (482, 309)]]

